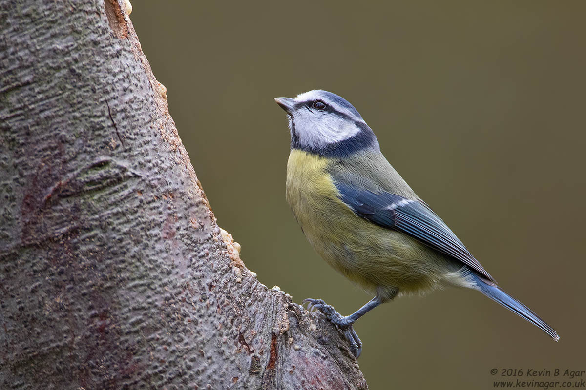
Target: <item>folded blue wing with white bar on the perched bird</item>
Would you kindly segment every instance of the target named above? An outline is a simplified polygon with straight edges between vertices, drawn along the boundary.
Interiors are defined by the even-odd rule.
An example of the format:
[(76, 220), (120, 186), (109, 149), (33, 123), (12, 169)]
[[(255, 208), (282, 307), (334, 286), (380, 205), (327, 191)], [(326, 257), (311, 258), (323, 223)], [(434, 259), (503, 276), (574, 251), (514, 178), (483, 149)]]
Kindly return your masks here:
[(384, 191), (376, 193), (370, 189), (356, 188), (353, 182), (335, 182), (335, 185), (342, 202), (357, 216), (409, 234), (433, 249), (462, 261), (483, 277), (495, 282), (462, 241), (423, 201)]

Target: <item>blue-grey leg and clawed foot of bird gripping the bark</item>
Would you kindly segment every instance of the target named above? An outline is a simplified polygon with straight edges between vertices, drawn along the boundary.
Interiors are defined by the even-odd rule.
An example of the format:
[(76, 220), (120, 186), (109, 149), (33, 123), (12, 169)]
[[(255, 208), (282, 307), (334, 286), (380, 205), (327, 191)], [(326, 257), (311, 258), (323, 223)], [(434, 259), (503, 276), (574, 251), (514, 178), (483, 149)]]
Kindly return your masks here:
[(343, 316), (336, 312), (336, 309), (334, 309), (332, 305), (328, 305), (327, 303), (323, 302), (322, 299), (308, 298), (304, 299), (303, 303), (308, 303), (308, 310), (319, 310), (323, 313), (323, 315), (326, 316), (329, 322), (333, 323), (333, 325), (336, 325), (338, 329), (342, 331), (346, 337), (346, 340), (348, 340), (350, 343), (350, 350), (354, 356), (359, 357), (360, 353), (362, 352), (362, 341), (360, 341), (352, 325), (356, 322), (357, 319), (365, 315), (370, 310), (376, 308), (376, 306), (379, 306), (382, 302), (375, 296), (373, 299), (370, 299), (366, 305), (362, 306), (362, 308), (356, 310), (356, 312), (349, 316)]

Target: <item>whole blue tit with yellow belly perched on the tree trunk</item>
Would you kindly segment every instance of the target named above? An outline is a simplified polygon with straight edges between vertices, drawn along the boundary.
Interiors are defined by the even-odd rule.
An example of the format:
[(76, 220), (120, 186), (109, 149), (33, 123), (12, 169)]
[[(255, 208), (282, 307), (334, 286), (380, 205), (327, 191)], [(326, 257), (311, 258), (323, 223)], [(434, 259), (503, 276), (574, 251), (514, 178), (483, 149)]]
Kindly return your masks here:
[(462, 241), (413, 192), (380, 151), (360, 113), (332, 92), (275, 98), (287, 112), (287, 201), (309, 243), (374, 298), (349, 316), (305, 299), (360, 355), (353, 323), (381, 303), (454, 286), (475, 289), (559, 340), (531, 309), (503, 291)]

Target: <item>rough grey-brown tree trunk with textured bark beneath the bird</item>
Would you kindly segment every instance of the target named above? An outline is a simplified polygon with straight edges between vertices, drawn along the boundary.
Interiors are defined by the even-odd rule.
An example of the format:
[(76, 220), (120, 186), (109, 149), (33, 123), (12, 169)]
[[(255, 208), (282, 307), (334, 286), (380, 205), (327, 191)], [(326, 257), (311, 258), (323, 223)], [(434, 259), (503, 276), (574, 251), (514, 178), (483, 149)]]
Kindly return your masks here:
[(366, 388), (216, 225), (124, 7), (0, 1), (0, 388)]

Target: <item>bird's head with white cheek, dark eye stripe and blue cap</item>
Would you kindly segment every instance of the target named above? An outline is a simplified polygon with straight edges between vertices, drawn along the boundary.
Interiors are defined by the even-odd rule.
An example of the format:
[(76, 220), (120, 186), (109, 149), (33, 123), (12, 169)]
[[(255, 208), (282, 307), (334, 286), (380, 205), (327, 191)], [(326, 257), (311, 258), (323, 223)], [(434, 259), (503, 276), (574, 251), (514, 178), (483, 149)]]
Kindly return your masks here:
[(292, 149), (329, 157), (379, 150), (376, 136), (360, 113), (332, 92), (314, 89), (294, 99), (275, 98), (275, 102), (287, 112)]

